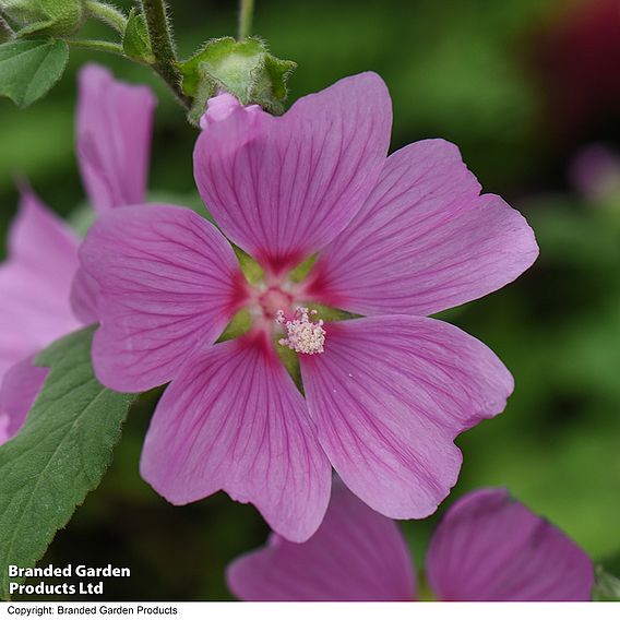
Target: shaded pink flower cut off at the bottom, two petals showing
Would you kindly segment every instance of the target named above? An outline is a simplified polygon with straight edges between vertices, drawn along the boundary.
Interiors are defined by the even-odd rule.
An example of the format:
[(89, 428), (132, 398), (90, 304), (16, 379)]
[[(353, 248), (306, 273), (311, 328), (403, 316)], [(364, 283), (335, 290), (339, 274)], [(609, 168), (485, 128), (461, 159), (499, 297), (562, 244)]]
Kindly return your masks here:
[[(504, 489), (474, 491), (437, 527), (426, 558), (440, 600), (589, 600), (592, 561), (565, 534)], [(396, 524), (338, 481), (321, 527), (296, 545), (267, 545), (227, 570), (242, 600), (416, 600), (413, 559)]]

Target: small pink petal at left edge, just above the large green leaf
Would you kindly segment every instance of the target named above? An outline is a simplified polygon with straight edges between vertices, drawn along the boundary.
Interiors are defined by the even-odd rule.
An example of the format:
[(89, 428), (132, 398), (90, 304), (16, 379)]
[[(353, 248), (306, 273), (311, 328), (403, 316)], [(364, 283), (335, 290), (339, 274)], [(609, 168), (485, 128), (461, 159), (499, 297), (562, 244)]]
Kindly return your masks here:
[(0, 385), (0, 445), (12, 439), (24, 426), (49, 368), (34, 366), (34, 355), (11, 367)]

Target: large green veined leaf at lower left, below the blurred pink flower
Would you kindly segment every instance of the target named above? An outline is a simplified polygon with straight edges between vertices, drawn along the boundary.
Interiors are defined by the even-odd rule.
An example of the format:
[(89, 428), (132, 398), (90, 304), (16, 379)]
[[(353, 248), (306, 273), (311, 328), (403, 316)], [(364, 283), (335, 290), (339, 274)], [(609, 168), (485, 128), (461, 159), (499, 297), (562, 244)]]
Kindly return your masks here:
[(0, 598), (9, 564), (34, 567), (75, 506), (98, 486), (133, 395), (104, 388), (91, 366), (94, 327), (41, 353), (50, 368), (22, 430), (0, 446)]

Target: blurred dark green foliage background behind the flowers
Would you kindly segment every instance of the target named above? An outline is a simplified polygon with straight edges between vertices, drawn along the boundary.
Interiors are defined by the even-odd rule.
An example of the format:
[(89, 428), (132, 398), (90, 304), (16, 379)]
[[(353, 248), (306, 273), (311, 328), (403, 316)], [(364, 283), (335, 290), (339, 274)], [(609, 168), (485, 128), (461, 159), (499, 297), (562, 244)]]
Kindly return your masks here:
[[(553, 82), (537, 56), (576, 3), (259, 0), (254, 32), (278, 57), (298, 63), (290, 100), (375, 70), (393, 97), (394, 147), (438, 135), (457, 143), (486, 191), (526, 214), (540, 245), (534, 269), (444, 315), (498, 353), (516, 390), (503, 415), (458, 440), (463, 473), (438, 515), (469, 489), (508, 487), (617, 571), (617, 561), (607, 560), (620, 553), (620, 196), (601, 208), (575, 194), (565, 170), (580, 145), (620, 134), (620, 106), (593, 102), (596, 122), (582, 122), (579, 136), (568, 140), (571, 128), (551, 128), (549, 102), (559, 93), (550, 92)], [(236, 27), (234, 2), (172, 2), (172, 12), (186, 57), (201, 40)], [(97, 36), (104, 32), (88, 27)], [(0, 102), (0, 233), (15, 208), (13, 175), (27, 175), (64, 215), (83, 201), (73, 153), (74, 74), (92, 59), (72, 50), (60, 85), (28, 110)], [(152, 189), (195, 205), (195, 130), (182, 110), (146, 69), (97, 60), (124, 80), (155, 85)], [(607, 78), (598, 74), (620, 83), (618, 64)], [(601, 116), (603, 108), (611, 111)], [(109, 599), (226, 599), (224, 568), (263, 544), (266, 526), (253, 508), (223, 493), (174, 508), (141, 480), (140, 449), (157, 397), (142, 398), (131, 412), (102, 487), (45, 561), (130, 567), (131, 580), (107, 582)], [(403, 524), (418, 565), (436, 521)]]

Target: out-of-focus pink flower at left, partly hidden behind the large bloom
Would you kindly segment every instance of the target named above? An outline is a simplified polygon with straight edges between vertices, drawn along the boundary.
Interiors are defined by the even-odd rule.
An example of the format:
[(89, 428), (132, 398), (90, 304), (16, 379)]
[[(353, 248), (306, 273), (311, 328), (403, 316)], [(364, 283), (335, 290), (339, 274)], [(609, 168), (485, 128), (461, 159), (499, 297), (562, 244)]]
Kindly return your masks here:
[[(154, 105), (146, 86), (118, 82), (95, 64), (80, 72), (79, 163), (99, 212), (144, 202)], [(20, 430), (43, 388), (47, 371), (33, 366), (36, 354), (92, 318), (92, 283), (75, 295), (78, 318), (71, 309), (78, 246), (69, 226), (24, 189), (0, 265), (0, 444)]]

